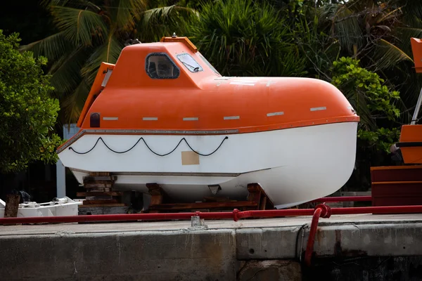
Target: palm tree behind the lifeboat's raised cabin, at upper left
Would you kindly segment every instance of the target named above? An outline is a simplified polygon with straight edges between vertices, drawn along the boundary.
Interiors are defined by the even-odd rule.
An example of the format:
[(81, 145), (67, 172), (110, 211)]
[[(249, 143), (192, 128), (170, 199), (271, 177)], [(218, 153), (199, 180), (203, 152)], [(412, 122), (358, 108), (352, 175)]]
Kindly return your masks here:
[[(23, 50), (49, 58), (60, 122), (76, 122), (101, 62), (115, 63), (128, 39), (156, 41), (183, 34), (198, 13), (160, 0), (43, 0), (58, 32)], [(183, 19), (183, 20), (182, 20)]]

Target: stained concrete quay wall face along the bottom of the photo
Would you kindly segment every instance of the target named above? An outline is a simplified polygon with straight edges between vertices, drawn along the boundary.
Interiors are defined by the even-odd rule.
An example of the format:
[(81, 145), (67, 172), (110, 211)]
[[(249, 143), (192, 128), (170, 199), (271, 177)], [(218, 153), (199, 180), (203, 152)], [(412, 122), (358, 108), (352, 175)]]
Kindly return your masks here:
[(84, 226), (56, 225), (44, 234), (0, 226), (0, 280), (422, 280), (422, 223), (415, 221), (321, 223), (310, 268), (302, 264), (309, 224)]

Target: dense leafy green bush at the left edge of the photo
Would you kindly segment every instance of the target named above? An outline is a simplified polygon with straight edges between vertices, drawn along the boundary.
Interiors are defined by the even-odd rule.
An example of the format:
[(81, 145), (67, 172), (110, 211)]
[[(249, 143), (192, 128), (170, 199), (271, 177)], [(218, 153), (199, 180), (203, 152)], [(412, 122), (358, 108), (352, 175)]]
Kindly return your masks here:
[(0, 30), (0, 171), (26, 169), (42, 160), (54, 163), (56, 148), (62, 143), (52, 133), (58, 100), (50, 98), (53, 87), (42, 67), (47, 60), (18, 51), (20, 39)]

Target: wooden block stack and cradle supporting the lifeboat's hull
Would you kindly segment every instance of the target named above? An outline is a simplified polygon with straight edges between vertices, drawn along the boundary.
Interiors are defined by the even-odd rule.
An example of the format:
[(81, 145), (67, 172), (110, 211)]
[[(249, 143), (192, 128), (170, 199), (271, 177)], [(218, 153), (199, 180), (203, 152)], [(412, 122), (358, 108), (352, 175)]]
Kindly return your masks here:
[[(85, 200), (79, 205), (79, 215), (127, 214), (132, 212), (130, 204), (128, 204), (130, 199), (127, 200), (125, 192), (113, 190), (114, 183), (115, 178), (109, 173), (91, 173), (84, 178), (84, 189), (86, 191), (77, 192), (77, 197), (85, 197)], [(274, 209), (274, 204), (259, 183), (248, 184), (249, 194), (243, 201), (230, 200), (228, 197), (210, 196), (203, 197), (202, 202), (193, 203), (181, 203), (173, 200), (158, 183), (147, 183), (146, 187), (151, 195), (151, 202), (148, 208), (141, 213)], [(219, 186), (216, 188), (219, 188)]]

